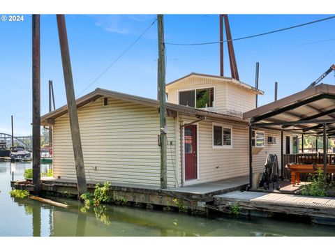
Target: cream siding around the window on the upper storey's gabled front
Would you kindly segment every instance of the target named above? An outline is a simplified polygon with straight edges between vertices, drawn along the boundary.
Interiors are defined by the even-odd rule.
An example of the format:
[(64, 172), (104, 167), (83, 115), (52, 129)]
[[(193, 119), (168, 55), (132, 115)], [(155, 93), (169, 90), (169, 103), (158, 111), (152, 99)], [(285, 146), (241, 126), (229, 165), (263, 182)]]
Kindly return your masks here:
[(207, 108), (207, 110), (226, 112), (226, 86), (227, 83), (222, 80), (192, 76), (166, 86), (166, 92), (168, 93), (168, 102), (178, 104), (178, 91), (214, 87), (214, 107)]

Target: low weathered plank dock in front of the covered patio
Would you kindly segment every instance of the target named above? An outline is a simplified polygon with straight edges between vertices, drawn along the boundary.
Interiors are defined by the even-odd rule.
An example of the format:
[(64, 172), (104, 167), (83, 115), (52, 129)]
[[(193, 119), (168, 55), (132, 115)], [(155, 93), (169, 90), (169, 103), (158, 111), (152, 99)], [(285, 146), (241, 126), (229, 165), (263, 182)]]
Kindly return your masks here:
[(232, 206), (247, 211), (309, 216), (313, 222), (335, 225), (335, 198), (288, 195), (279, 192), (228, 192), (214, 196), (214, 206), (231, 213)]

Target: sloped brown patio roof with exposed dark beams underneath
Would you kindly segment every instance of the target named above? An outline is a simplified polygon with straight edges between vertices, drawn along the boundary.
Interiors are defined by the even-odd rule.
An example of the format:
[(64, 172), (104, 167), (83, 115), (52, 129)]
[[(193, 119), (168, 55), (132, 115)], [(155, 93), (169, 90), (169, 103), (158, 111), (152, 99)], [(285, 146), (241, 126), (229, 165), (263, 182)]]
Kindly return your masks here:
[(322, 134), (327, 123), (329, 136), (335, 135), (335, 86), (320, 84), (243, 114), (258, 128)]

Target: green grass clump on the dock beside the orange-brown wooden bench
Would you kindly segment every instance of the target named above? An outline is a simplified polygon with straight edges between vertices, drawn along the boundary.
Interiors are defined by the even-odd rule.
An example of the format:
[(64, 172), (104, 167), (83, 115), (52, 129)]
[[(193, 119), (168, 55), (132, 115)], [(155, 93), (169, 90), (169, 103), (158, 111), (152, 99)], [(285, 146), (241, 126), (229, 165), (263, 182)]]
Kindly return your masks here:
[(308, 185), (302, 185), (301, 195), (326, 197), (327, 196), (327, 182), (322, 169), (318, 169), (314, 174), (309, 174)]

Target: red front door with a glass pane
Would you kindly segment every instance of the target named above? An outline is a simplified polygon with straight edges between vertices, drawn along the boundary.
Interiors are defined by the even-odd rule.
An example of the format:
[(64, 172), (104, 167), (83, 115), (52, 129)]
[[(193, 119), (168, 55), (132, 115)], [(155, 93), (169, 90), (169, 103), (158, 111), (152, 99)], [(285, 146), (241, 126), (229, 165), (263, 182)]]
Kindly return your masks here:
[(185, 126), (185, 181), (197, 178), (197, 126)]

